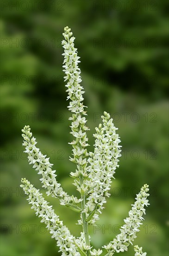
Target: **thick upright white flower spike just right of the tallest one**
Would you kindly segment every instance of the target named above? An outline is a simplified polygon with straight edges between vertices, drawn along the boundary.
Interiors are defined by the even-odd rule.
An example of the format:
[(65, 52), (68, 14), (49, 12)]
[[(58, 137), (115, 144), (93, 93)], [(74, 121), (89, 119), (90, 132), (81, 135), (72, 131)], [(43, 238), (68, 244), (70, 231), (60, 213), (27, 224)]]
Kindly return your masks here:
[(118, 158), (121, 156), (119, 135), (116, 134), (117, 128), (114, 127), (113, 119), (106, 112), (101, 117), (103, 127), (100, 124), (99, 128), (95, 128), (94, 153), (90, 152), (88, 159), (89, 181), (86, 181), (86, 184), (90, 194), (85, 211), (90, 224), (94, 224), (99, 219), (98, 213), (101, 214), (106, 197), (110, 196), (108, 191), (111, 187), (111, 179), (114, 178), (115, 169), (119, 167)]

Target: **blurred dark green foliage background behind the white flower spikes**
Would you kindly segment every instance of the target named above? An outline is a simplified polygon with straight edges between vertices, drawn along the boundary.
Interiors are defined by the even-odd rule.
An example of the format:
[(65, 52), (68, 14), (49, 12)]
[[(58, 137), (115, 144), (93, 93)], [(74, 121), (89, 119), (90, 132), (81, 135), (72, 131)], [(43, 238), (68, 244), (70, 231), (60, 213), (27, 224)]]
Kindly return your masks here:
[[(69, 177), (75, 165), (69, 161), (62, 71), (65, 26), (72, 28), (81, 57), (88, 150), (104, 110), (119, 128), (123, 147), (111, 197), (98, 226), (90, 227), (92, 245), (113, 240), (147, 183), (150, 206), (134, 244), (148, 256), (168, 255), (168, 7), (167, 0), (1, 1), (1, 256), (61, 255), (19, 188), (22, 177), (41, 188), (23, 153), (25, 125), (50, 156), (63, 188), (79, 196)], [(79, 236), (79, 215), (47, 200)], [(122, 255), (134, 255), (132, 246)]]

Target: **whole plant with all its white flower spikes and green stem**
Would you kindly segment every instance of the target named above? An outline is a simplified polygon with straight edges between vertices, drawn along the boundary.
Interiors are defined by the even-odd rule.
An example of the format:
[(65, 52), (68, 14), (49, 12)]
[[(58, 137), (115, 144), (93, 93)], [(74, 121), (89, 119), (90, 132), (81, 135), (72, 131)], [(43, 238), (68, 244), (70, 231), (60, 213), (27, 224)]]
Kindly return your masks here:
[[(81, 83), (81, 70), (78, 67), (79, 58), (77, 49), (74, 47), (75, 37), (69, 27), (64, 28), (64, 39), (62, 41), (64, 48), (63, 68), (65, 72), (64, 79), (67, 81), (66, 87), (68, 92), (69, 110), (72, 112), (71, 134), (74, 140), (69, 144), (72, 145), (73, 153), (70, 161), (76, 164), (75, 172), (71, 172), (70, 176), (74, 178), (74, 185), (80, 193), (80, 198), (70, 196), (63, 190), (61, 184), (56, 181), (56, 170), (52, 170), (53, 164), (49, 162), (49, 158), (43, 155), (39, 148), (36, 147), (36, 139), (32, 137), (31, 129), (25, 126), (22, 129), (24, 138), (23, 146), (25, 153), (28, 154), (30, 164), (42, 176), (40, 181), (46, 189), (46, 194), (56, 197), (60, 204), (80, 213), (78, 224), (82, 226), (81, 236), (75, 238), (70, 234), (69, 229), (59, 220), (59, 216), (54, 213), (52, 206), (44, 200), (38, 189), (25, 178), (22, 179), (21, 187), (25, 194), (29, 196), (28, 201), (32, 205), (32, 209), (36, 211), (36, 215), (42, 218), (41, 222), (46, 224), (50, 230), (52, 238), (57, 241), (62, 256), (112, 256), (119, 252), (127, 251), (130, 243), (132, 244), (139, 227), (144, 220), (144, 206), (148, 206), (147, 196), (148, 185), (145, 184), (138, 195), (136, 201), (132, 204), (129, 216), (124, 220), (125, 224), (120, 229), (120, 234), (113, 239), (108, 245), (102, 246), (105, 250), (94, 249), (91, 246), (90, 236), (88, 233), (88, 225), (95, 225), (99, 220), (99, 214), (104, 209), (106, 197), (110, 196), (112, 178), (114, 179), (115, 170), (119, 167), (119, 135), (116, 134), (117, 128), (114, 127), (113, 119), (104, 112), (101, 116), (102, 123), (95, 128), (94, 134), (94, 152), (87, 151), (88, 138), (86, 131), (87, 115), (83, 105), (84, 90)], [(134, 247), (135, 256), (145, 256), (142, 247), (136, 245)]]

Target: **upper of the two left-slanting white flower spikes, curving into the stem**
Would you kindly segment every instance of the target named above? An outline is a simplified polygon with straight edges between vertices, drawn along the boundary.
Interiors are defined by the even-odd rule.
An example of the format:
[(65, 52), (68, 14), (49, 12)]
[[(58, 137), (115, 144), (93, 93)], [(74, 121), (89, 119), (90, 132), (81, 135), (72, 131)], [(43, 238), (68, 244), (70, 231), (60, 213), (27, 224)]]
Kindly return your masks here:
[(69, 208), (80, 212), (81, 209), (77, 206), (77, 204), (81, 202), (81, 199), (77, 199), (73, 195), (69, 196), (63, 191), (61, 184), (56, 181), (56, 170), (52, 171), (51, 169), (53, 164), (51, 164), (49, 162), (49, 158), (46, 158), (46, 155), (43, 155), (39, 151), (39, 148), (35, 146), (37, 142), (36, 139), (32, 137), (32, 133), (30, 131), (31, 128), (29, 125), (22, 129), (22, 136), (24, 138), (22, 145), (25, 146), (24, 152), (28, 154), (29, 163), (33, 164), (33, 168), (38, 171), (38, 174), (42, 175), (40, 181), (43, 183), (43, 187), (48, 189), (46, 194), (59, 198), (62, 205), (66, 205)]

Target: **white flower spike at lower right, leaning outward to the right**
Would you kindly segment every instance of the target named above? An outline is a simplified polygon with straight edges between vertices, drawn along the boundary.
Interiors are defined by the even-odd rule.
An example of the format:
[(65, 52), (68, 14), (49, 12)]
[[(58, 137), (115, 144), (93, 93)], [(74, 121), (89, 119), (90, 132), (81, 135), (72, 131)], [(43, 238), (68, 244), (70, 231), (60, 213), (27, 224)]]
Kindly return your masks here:
[(132, 208), (129, 211), (129, 217), (127, 217), (124, 222), (125, 224), (121, 227), (121, 233), (113, 239), (108, 245), (105, 245), (104, 248), (113, 255), (114, 252), (124, 252), (127, 250), (129, 244), (132, 244), (134, 238), (136, 238), (136, 234), (139, 231), (139, 227), (142, 224), (141, 222), (144, 220), (143, 214), (145, 214), (144, 206), (148, 206), (147, 193), (149, 191), (148, 185), (145, 184), (141, 191), (138, 193), (136, 197), (136, 201), (132, 204)]

